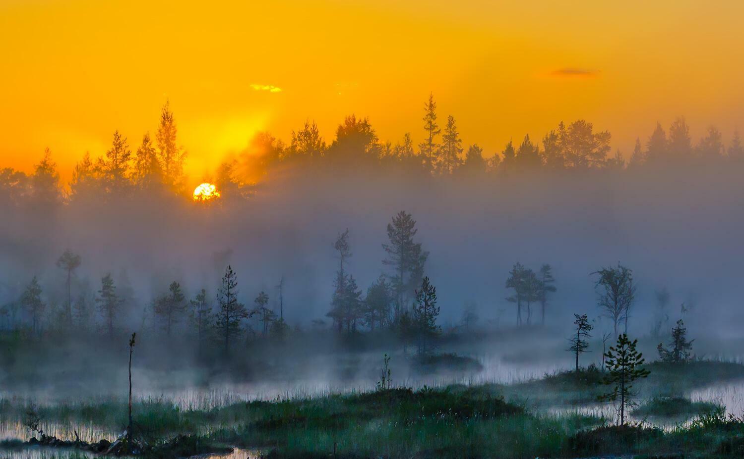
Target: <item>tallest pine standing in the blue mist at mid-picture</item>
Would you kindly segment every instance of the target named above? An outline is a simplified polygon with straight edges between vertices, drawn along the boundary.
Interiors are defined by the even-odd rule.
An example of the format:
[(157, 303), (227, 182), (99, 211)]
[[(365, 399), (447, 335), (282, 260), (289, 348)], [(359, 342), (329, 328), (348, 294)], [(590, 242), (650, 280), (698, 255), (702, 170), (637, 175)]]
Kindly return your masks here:
[(395, 317), (405, 308), (404, 302), (423, 279), (423, 267), (429, 252), (422, 250), (420, 242), (414, 242), (418, 232), (413, 216), (403, 210), (388, 223), (388, 244), (382, 244), (388, 258), (382, 264), (392, 267), (392, 288), (396, 298)]

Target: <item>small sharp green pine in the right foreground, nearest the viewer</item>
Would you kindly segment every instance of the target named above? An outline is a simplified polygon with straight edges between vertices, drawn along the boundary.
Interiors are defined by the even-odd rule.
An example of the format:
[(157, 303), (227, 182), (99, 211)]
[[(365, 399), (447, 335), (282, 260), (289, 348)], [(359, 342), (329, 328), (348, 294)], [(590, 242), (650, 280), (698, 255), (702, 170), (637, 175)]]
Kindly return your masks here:
[(605, 365), (609, 370), (603, 379), (603, 384), (612, 385), (612, 390), (599, 397), (600, 401), (620, 400), (620, 426), (625, 425), (626, 408), (632, 406), (632, 383), (640, 378), (648, 377), (650, 371), (641, 368), (645, 360), (643, 354), (635, 350), (638, 339), (630, 341), (625, 333), (618, 336), (618, 343), (610, 346), (605, 354)]

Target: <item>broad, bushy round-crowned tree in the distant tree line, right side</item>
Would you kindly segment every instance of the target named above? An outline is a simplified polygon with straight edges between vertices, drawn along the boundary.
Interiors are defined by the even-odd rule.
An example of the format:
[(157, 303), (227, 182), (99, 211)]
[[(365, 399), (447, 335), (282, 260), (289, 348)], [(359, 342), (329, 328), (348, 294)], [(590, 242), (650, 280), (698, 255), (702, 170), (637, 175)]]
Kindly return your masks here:
[(609, 131), (594, 132), (594, 126), (585, 120), (574, 121), (568, 128), (558, 125), (558, 146), (573, 168), (603, 166), (611, 138)]

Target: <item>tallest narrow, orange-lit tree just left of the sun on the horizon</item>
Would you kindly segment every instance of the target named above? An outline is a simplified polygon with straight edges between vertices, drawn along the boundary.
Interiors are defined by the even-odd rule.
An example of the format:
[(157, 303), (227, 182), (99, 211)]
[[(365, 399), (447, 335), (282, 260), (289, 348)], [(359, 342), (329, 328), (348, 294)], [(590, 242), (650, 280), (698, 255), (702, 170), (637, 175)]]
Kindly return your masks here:
[(186, 152), (179, 146), (177, 134), (178, 128), (173, 111), (170, 111), (170, 102), (165, 102), (160, 113), (158, 132), (155, 134), (158, 163), (165, 185), (176, 192), (181, 192), (184, 186), (183, 166)]

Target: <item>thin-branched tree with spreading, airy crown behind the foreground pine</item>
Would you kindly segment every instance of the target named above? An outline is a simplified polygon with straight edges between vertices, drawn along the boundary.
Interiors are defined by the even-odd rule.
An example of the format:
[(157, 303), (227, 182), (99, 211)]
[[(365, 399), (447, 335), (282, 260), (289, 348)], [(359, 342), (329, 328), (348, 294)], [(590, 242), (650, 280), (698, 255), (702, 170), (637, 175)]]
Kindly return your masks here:
[(612, 319), (615, 336), (618, 336), (618, 325), (625, 321), (625, 331), (628, 331), (628, 316), (630, 307), (635, 299), (635, 285), (633, 272), (618, 264), (618, 267), (603, 267), (592, 274), (597, 274), (596, 287), (600, 289), (599, 306), (606, 316)]

